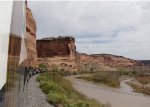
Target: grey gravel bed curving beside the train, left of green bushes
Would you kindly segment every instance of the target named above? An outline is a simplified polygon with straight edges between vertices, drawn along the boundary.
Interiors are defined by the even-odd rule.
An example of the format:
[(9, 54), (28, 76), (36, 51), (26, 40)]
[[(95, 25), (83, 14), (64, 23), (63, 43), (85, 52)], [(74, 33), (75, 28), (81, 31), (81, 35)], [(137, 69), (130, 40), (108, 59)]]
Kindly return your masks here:
[(46, 101), (46, 95), (39, 88), (39, 83), (36, 81), (35, 75), (30, 78), (26, 84), (27, 87), (24, 90), (26, 96), (24, 96), (24, 104), (22, 107), (53, 107)]

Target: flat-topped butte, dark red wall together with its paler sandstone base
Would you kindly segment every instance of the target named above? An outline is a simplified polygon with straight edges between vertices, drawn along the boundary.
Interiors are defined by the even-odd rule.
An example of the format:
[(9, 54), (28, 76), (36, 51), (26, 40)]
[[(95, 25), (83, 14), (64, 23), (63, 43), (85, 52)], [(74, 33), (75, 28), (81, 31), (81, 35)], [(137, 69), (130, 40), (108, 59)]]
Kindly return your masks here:
[(50, 37), (37, 40), (38, 63), (58, 65), (65, 71), (77, 71), (76, 46), (73, 37)]

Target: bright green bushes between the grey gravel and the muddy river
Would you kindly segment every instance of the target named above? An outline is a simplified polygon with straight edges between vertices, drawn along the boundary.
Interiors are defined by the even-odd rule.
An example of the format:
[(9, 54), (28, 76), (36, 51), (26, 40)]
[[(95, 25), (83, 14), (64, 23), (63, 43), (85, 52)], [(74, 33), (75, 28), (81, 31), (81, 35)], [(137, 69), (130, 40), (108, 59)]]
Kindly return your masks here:
[(37, 81), (47, 95), (48, 102), (56, 107), (105, 107), (95, 100), (87, 99), (73, 88), (70, 81), (59, 75), (55, 75), (54, 79), (54, 75), (45, 72), (37, 77)]

